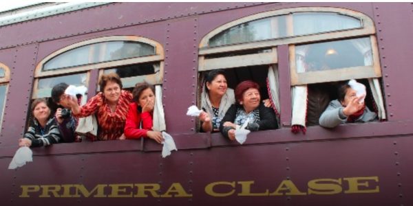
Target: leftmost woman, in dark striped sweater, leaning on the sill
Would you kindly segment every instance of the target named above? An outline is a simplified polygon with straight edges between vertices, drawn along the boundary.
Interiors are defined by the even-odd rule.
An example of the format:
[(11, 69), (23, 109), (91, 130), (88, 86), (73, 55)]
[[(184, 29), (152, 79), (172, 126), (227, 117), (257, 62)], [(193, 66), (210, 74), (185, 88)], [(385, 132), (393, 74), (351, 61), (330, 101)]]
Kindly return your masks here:
[(45, 99), (36, 99), (30, 109), (34, 116), (27, 133), (19, 139), (19, 146), (49, 146), (61, 141), (61, 133)]

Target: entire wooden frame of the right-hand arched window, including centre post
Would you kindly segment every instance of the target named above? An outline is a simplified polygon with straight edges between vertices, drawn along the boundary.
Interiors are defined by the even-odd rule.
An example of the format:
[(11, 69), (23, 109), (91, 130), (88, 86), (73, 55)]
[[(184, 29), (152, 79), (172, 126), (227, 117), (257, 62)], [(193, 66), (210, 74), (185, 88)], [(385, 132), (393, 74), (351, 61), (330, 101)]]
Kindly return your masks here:
[[(299, 13), (299, 12), (329, 12), (329, 13), (341, 14), (344, 16), (352, 17), (354, 19), (359, 19), (361, 23), (361, 27), (355, 27), (352, 29), (344, 29), (344, 30), (333, 30), (330, 32), (319, 32), (315, 34), (303, 34), (300, 36), (293, 36), (294, 34), (293, 14)], [(219, 45), (219, 46), (209, 47), (210, 39), (213, 38), (213, 36), (220, 34), (220, 32), (223, 32), (224, 30), (227, 30), (231, 27), (235, 27), (242, 23), (255, 21), (255, 20), (263, 19), (263, 18), (268, 18), (271, 16), (280, 16), (280, 15), (286, 15), (286, 34), (287, 34), (286, 37), (270, 38), (270, 39), (261, 40), (261, 41), (251, 41), (251, 42), (246, 42), (246, 43), (234, 43), (234, 44), (229, 44), (229, 45)], [(273, 27), (273, 25), (274, 23), (273, 21), (271, 21), (272, 29), (275, 28)], [(377, 45), (376, 28), (374, 25), (374, 21), (370, 18), (370, 16), (363, 14), (361, 12), (349, 10), (346, 8), (332, 8), (332, 7), (286, 8), (286, 9), (281, 9), (281, 10), (260, 12), (257, 14), (244, 16), (235, 21), (225, 23), (224, 25), (220, 25), (219, 27), (216, 27), (214, 30), (212, 30), (207, 35), (205, 35), (199, 44), (198, 72), (207, 71), (207, 70), (210, 70), (211, 68), (215, 69), (215, 67), (209, 67), (208, 65), (205, 65), (206, 62), (208, 63), (208, 60), (205, 59), (205, 56), (209, 56), (212, 54), (223, 54), (226, 52), (241, 52), (245, 50), (268, 49), (268, 48), (273, 49), (272, 53), (277, 54), (276, 55), (277, 58), (279, 58), (278, 53), (281, 53), (282, 56), (284, 56), (284, 58), (287, 57), (288, 59), (283, 59), (281, 60), (281, 62), (279, 62), (279, 60), (277, 59), (273, 62), (273, 64), (277, 64), (277, 65), (282, 64), (284, 69), (279, 70), (279, 78), (282, 78), (282, 77), (288, 78), (288, 80), (279, 79), (279, 85), (278, 85), (280, 89), (279, 91), (280, 98), (289, 98), (288, 101), (281, 100), (280, 102), (281, 104), (280, 104), (279, 110), (284, 111), (284, 115), (280, 113), (280, 120), (281, 120), (280, 125), (282, 125), (281, 128), (283, 128), (283, 126), (290, 126), (289, 122), (291, 122), (291, 119), (292, 119), (291, 114), (288, 112), (288, 111), (291, 112), (293, 109), (292, 102), (290, 102), (292, 98), (290, 89), (294, 87), (295, 85), (299, 85), (299, 84), (319, 82), (317, 80), (318, 73), (314, 73), (314, 72), (311, 72), (311, 73), (309, 72), (310, 74), (308, 73), (298, 74), (297, 73), (297, 70), (295, 67), (295, 45), (304, 45), (304, 44), (319, 43), (319, 42), (325, 42), (325, 41), (338, 41), (338, 40), (343, 40), (343, 39), (363, 38), (363, 37), (370, 38), (370, 43), (372, 47), (373, 65), (368, 66), (368, 67), (348, 67), (348, 68), (343, 68), (343, 71), (350, 71), (351, 77), (347, 76), (348, 79), (350, 78), (380, 78), (382, 75), (381, 75), (381, 66), (379, 62), (380, 59), (379, 59), (379, 49)], [(286, 55), (284, 53), (286, 53)], [(255, 56), (255, 57), (258, 58), (258, 56)], [(235, 59), (234, 56), (231, 56), (231, 58), (227, 58), (227, 59), (221, 58), (221, 60), (234, 60), (234, 59)], [(211, 60), (209, 61), (211, 62)], [(231, 63), (229, 64), (231, 65)], [(232, 64), (232, 65), (235, 65), (235, 64)], [(288, 69), (285, 67), (288, 67)], [(361, 75), (354, 75), (354, 73), (356, 73), (357, 70), (359, 71), (360, 69), (362, 69), (364, 73), (362, 73)], [(336, 72), (337, 74), (337, 70), (339, 69), (335, 69), (335, 71), (332, 71), (332, 72)], [(330, 73), (328, 73), (327, 75), (330, 75)], [(306, 76), (306, 77), (303, 77), (303, 76)], [(332, 77), (335, 77), (335, 76), (332, 76)], [(308, 78), (307, 82), (304, 81), (306, 78)], [(309, 80), (312, 80), (312, 81), (309, 81)], [(341, 79), (331, 78), (330, 80), (324, 81), (324, 82), (333, 82), (337, 80), (341, 80)], [(288, 82), (288, 92), (286, 91), (286, 87), (282, 86), (282, 82), (284, 83)], [(281, 91), (281, 89), (283, 89), (283, 91)], [(286, 95), (287, 93), (289, 94), (288, 96)]]

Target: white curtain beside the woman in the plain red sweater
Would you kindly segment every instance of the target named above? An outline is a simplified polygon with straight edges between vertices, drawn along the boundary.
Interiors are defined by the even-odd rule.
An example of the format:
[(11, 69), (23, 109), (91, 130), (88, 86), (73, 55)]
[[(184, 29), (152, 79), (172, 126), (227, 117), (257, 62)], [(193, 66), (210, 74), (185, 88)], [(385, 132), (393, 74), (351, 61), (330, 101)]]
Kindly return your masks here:
[(155, 86), (155, 108), (153, 108), (153, 130), (165, 131), (167, 126), (165, 124), (165, 113), (162, 106), (162, 86)]

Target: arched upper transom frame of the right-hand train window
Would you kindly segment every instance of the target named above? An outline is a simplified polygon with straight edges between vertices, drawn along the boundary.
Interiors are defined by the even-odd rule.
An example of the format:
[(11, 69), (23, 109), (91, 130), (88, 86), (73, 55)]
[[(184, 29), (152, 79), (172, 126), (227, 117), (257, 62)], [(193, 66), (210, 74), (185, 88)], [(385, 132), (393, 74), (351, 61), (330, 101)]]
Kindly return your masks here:
[[(316, 34), (306, 34), (302, 36), (287, 36), (283, 38), (274, 38), (263, 41), (253, 41), (249, 43), (237, 43), (233, 45), (222, 45), (217, 47), (209, 47), (209, 39), (213, 36), (219, 34), (220, 32), (234, 27), (236, 25), (246, 23), (248, 21), (254, 21), (257, 19), (263, 19), (271, 16), (286, 15), (286, 27), (287, 33), (293, 34), (293, 16), (291, 14), (297, 12), (332, 12), (345, 16), (350, 16), (357, 18), (361, 21), (361, 28), (350, 29), (350, 30), (337, 30), (335, 32), (322, 32)], [(200, 51), (199, 55), (207, 54), (216, 54), (223, 52), (235, 52), (245, 49), (260, 49), (265, 47), (276, 47), (277, 45), (290, 45), (290, 44), (299, 44), (299, 43), (311, 43), (315, 41), (328, 41), (339, 38), (349, 38), (352, 36), (366, 36), (370, 34), (375, 34), (374, 23), (370, 17), (361, 12), (355, 12), (352, 10), (347, 10), (343, 8), (328, 8), (328, 7), (305, 7), (305, 8), (287, 8), (282, 10), (275, 10), (270, 12), (262, 12), (258, 14), (253, 14), (251, 16), (246, 16), (235, 21), (231, 21), (220, 27), (216, 28), (209, 32), (202, 40), (200, 41)]]

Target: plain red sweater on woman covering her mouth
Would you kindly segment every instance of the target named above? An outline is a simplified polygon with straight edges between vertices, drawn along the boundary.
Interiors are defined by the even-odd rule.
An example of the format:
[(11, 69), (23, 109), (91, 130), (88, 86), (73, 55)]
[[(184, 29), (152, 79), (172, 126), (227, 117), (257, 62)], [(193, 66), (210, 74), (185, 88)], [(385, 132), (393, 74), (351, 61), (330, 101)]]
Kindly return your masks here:
[[(139, 128), (142, 122), (142, 128)], [(152, 130), (152, 114), (149, 112), (140, 113), (136, 102), (129, 104), (129, 111), (126, 117), (125, 136), (126, 139), (139, 139), (147, 137), (147, 131)]]

